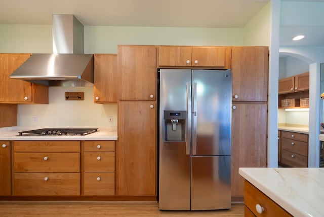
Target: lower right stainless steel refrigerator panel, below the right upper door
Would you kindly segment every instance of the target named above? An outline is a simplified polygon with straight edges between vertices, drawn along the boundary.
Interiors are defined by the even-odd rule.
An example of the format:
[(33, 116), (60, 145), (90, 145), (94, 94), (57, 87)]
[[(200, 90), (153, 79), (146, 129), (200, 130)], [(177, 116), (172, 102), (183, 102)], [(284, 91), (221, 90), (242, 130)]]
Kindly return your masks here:
[(230, 156), (193, 156), (191, 210), (231, 207)]

